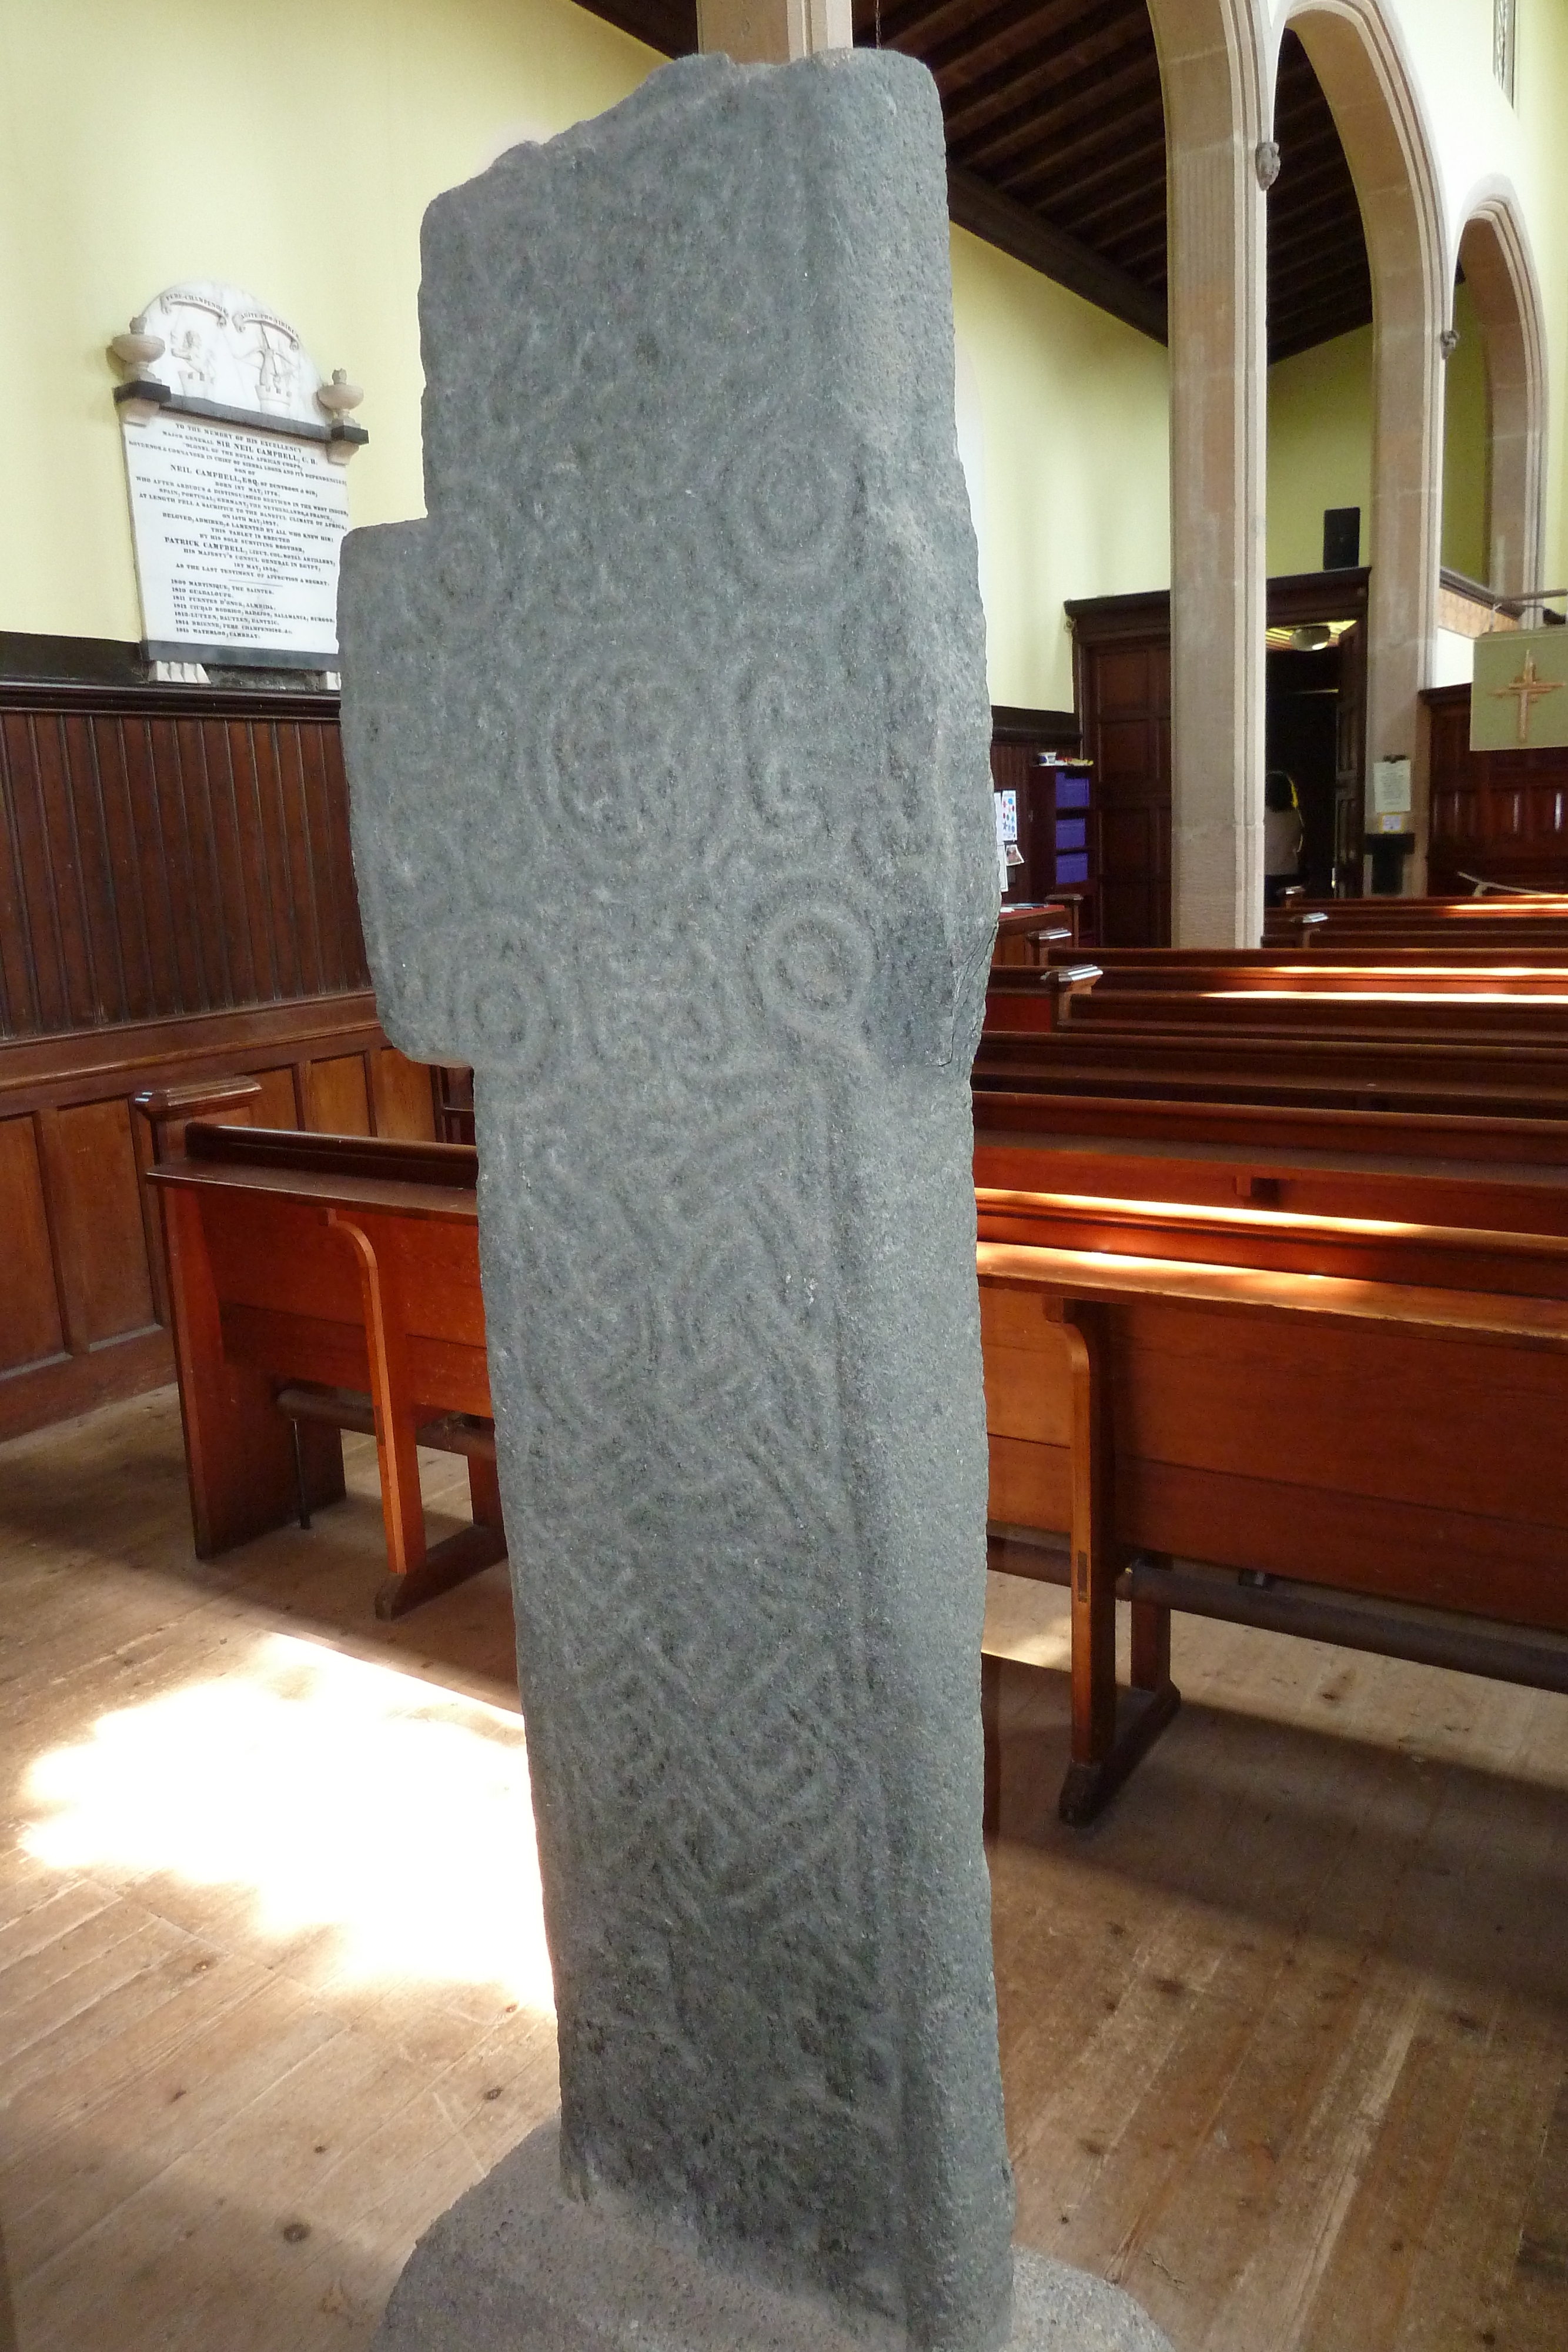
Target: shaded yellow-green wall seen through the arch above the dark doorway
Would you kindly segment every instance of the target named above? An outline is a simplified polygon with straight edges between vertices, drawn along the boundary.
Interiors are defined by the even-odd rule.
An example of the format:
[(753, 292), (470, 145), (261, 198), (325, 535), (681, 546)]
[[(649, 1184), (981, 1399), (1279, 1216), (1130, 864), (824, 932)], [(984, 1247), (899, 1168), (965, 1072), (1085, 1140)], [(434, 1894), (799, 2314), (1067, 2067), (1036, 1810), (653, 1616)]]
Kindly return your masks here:
[(1324, 508), (1373, 527), (1373, 329), (1338, 334), (1269, 369), (1269, 576), (1321, 572)]

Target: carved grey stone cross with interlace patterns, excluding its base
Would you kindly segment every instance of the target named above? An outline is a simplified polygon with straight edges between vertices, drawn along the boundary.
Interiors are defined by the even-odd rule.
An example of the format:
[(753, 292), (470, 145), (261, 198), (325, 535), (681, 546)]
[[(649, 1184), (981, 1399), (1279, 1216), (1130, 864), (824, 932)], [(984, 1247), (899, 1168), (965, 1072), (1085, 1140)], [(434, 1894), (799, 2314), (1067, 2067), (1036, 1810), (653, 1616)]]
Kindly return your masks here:
[(997, 877), (936, 89), (670, 66), (433, 205), (421, 303), (430, 520), (346, 546), (343, 727), (381, 1016), (477, 1073), (564, 2178), (983, 2352)]

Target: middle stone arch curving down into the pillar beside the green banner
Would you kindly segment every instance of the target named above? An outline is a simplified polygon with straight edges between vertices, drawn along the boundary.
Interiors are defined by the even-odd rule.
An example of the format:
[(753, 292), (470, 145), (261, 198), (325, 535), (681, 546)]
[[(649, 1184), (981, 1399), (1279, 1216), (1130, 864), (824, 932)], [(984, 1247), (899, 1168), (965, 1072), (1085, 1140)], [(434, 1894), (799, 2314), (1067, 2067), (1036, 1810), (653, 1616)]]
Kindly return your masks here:
[[(1378, 0), (1288, 0), (1361, 202), (1373, 278), (1373, 515), (1368, 609), (1371, 760), (1418, 755), (1429, 680), (1443, 480), (1443, 353), (1453, 263), (1432, 139), (1396, 28)], [(1415, 830), (1425, 837), (1422, 779)], [(1425, 882), (1425, 861), (1410, 873)]]

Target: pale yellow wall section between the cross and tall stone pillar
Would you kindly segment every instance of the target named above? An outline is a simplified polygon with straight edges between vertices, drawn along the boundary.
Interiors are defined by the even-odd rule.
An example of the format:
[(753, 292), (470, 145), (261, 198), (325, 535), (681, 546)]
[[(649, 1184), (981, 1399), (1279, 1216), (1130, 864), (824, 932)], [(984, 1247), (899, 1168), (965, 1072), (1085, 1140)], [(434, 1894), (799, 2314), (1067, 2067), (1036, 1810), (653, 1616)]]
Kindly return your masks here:
[(1171, 583), (1168, 358), (961, 228), (952, 313), (985, 426), (992, 701), (1070, 710), (1063, 602)]

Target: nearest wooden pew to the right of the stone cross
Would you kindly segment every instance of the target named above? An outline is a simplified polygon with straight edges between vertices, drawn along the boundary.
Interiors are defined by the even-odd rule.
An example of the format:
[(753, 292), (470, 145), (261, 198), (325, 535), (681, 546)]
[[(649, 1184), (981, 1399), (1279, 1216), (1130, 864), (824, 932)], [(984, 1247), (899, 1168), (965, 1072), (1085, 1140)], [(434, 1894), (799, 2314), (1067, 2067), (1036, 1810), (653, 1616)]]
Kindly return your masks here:
[(1063, 1818), (1175, 1715), (1173, 1606), (1568, 1691), (1568, 1190), (1533, 1232), (1507, 1178), (1455, 1185), (1403, 1176), (1399, 1221), (978, 1190), (999, 1564), (1070, 1536)]

